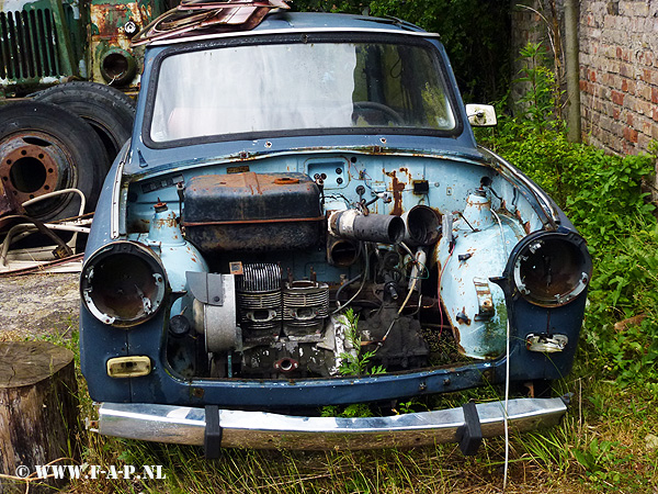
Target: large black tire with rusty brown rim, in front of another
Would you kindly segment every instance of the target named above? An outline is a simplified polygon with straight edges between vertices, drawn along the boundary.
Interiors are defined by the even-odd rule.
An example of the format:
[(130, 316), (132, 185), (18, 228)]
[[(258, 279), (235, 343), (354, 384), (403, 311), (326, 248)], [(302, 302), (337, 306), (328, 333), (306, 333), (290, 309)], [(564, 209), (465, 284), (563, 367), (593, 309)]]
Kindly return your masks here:
[[(19, 203), (63, 189), (79, 189), (93, 211), (105, 178), (107, 155), (82, 119), (48, 103), (22, 101), (0, 108), (0, 181)], [(42, 222), (77, 216), (77, 194), (25, 207)]]

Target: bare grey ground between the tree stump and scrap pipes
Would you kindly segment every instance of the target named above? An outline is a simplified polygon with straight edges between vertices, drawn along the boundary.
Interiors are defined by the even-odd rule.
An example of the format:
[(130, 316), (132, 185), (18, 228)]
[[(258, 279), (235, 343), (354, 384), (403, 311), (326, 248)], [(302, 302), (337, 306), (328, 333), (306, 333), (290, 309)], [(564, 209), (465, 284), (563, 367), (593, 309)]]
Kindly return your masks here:
[(79, 273), (0, 278), (0, 340), (57, 334), (78, 326)]

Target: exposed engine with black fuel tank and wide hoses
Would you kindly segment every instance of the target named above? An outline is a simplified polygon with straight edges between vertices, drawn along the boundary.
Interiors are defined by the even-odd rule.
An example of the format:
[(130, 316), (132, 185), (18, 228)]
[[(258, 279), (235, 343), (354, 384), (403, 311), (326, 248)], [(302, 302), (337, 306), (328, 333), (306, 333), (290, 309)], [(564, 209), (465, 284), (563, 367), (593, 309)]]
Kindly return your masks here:
[[(182, 315), (170, 323), (175, 370), (214, 378), (329, 377), (341, 373), (348, 356), (366, 351), (370, 367), (427, 366), (420, 279), (429, 277), (424, 262), (440, 237), (439, 214), (427, 206), (404, 218), (366, 206), (325, 213), (319, 182), (302, 173), (189, 181), (184, 237), (218, 272), (186, 272), (190, 293), (174, 303), (172, 314)], [(327, 279), (313, 266), (308, 276), (295, 277), (295, 261), (304, 257), (320, 259)], [(358, 322), (345, 317), (348, 307)], [(202, 348), (191, 351), (192, 345)]]

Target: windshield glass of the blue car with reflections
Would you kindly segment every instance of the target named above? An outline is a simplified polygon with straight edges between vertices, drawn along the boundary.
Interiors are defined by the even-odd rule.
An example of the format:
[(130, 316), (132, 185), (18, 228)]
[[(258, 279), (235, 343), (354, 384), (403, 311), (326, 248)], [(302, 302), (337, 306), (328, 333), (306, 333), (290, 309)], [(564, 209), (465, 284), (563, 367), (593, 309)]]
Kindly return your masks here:
[(225, 46), (160, 66), (150, 138), (353, 127), (451, 131), (434, 48), (388, 43)]

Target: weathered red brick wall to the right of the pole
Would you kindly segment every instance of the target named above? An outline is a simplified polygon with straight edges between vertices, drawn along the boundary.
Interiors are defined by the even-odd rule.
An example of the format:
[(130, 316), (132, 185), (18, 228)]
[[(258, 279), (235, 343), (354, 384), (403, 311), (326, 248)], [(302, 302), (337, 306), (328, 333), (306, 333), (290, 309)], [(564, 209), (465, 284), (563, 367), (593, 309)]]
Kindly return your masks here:
[(658, 141), (658, 0), (580, 2), (587, 142), (616, 154)]

